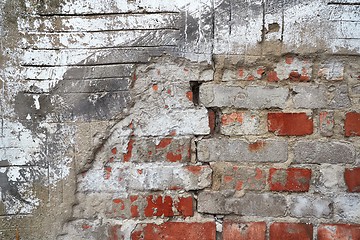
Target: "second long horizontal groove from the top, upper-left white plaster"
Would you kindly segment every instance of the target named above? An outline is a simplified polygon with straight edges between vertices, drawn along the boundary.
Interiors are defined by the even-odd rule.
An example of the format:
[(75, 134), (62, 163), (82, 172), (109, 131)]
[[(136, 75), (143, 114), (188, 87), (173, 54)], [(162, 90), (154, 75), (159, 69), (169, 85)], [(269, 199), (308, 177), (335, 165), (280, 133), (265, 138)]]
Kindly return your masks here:
[(94, 30), (94, 31), (20, 31), (22, 34), (32, 34), (32, 35), (38, 35), (38, 34), (48, 34), (48, 33), (59, 33), (59, 34), (82, 34), (82, 33), (109, 33), (109, 32), (133, 32), (133, 31), (163, 31), (163, 30), (173, 30), (173, 31), (179, 31), (180, 28), (127, 28), (127, 29), (106, 29), (106, 30)]

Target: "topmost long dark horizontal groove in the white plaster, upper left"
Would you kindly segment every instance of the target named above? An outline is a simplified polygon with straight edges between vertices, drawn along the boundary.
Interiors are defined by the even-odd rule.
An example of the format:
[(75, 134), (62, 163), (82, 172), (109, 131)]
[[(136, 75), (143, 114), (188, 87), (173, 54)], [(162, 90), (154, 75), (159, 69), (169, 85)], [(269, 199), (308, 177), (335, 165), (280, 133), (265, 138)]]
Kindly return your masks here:
[(181, 12), (177, 11), (152, 11), (152, 12), (108, 12), (108, 13), (52, 13), (52, 14), (42, 14), (38, 13), (32, 16), (40, 17), (84, 17), (84, 16), (119, 16), (119, 15), (154, 15), (154, 14), (180, 14)]

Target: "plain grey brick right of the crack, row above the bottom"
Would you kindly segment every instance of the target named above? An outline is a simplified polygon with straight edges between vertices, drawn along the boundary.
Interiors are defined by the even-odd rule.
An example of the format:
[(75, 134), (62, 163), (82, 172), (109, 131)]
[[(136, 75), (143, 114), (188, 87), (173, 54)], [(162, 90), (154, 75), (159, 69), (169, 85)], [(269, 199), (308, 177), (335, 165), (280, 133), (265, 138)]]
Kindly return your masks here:
[(241, 198), (227, 200), (225, 208), (239, 215), (280, 217), (285, 215), (286, 200), (277, 194), (246, 193)]

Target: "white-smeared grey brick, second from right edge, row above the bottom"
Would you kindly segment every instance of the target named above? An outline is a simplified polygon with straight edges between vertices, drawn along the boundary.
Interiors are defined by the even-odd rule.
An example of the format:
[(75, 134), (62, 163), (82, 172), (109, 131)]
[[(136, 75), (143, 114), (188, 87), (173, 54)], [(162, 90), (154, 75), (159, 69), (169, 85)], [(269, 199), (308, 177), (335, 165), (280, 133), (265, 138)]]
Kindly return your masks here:
[(332, 213), (332, 201), (323, 196), (290, 197), (290, 215), (293, 217), (329, 218)]

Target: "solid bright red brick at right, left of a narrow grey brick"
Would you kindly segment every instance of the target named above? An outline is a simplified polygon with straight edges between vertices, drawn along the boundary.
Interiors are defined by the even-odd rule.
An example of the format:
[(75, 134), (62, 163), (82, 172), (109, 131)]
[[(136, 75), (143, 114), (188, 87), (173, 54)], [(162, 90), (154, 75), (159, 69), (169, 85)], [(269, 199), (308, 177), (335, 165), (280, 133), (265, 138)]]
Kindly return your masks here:
[(313, 120), (306, 113), (268, 113), (268, 129), (276, 135), (310, 135), (313, 128)]

